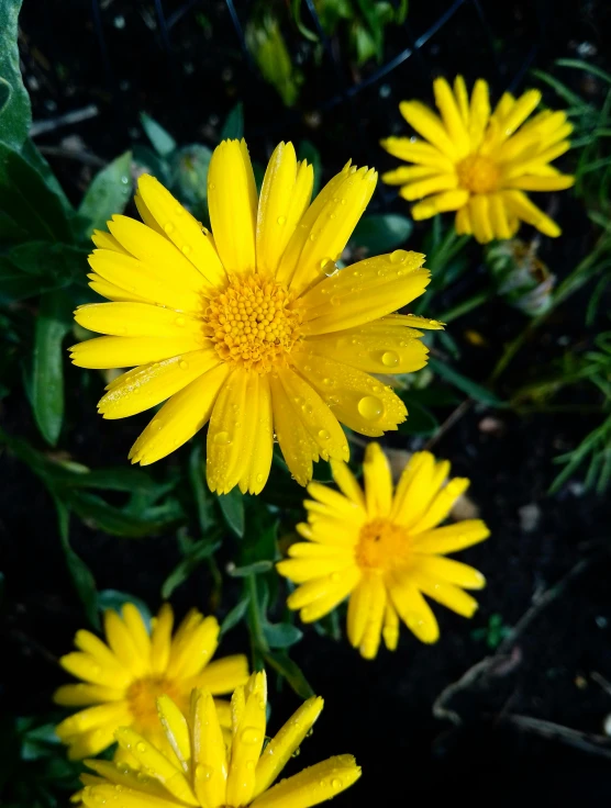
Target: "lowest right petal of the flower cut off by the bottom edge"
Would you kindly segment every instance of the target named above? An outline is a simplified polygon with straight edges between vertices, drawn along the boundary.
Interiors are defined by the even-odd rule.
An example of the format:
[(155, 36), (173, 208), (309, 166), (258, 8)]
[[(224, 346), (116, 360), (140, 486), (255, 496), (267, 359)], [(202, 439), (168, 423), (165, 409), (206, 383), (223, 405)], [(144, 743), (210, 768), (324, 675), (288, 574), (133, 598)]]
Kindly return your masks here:
[(281, 781), (253, 803), (256, 808), (310, 808), (348, 788), (360, 777), (349, 754), (330, 758)]

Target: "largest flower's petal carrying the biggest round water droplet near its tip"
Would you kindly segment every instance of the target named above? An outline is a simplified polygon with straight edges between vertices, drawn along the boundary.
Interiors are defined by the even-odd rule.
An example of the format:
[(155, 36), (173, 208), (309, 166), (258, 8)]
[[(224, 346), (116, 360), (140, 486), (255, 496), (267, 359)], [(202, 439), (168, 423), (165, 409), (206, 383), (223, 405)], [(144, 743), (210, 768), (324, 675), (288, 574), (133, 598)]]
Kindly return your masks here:
[[(293, 361), (322, 400), (333, 407), (333, 417), (351, 429), (377, 437), (396, 429), (406, 419), (403, 402), (389, 386), (367, 373), (322, 356), (312, 361), (307, 356), (295, 355)], [(329, 384), (329, 380), (334, 384)]]

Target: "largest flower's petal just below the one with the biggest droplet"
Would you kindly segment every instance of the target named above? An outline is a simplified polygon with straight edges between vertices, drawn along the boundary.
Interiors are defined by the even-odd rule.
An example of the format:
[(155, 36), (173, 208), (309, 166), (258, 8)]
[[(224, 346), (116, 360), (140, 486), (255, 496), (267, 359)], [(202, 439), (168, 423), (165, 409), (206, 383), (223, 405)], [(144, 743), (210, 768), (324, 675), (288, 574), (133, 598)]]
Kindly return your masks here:
[[(299, 368), (302, 370), (302, 368)], [(293, 370), (279, 369), (278, 379), (292, 406), (292, 414), (303, 424), (321, 457), (348, 460), (349, 449), (337, 418), (308, 381)]]

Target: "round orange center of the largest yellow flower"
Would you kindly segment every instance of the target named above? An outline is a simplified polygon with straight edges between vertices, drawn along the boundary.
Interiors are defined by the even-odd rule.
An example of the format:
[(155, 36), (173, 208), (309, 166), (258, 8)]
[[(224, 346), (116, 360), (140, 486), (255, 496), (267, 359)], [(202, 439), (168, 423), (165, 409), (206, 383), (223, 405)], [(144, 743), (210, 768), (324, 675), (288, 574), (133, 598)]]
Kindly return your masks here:
[(233, 280), (210, 301), (208, 336), (223, 361), (266, 373), (300, 341), (301, 313), (280, 283), (259, 276)]

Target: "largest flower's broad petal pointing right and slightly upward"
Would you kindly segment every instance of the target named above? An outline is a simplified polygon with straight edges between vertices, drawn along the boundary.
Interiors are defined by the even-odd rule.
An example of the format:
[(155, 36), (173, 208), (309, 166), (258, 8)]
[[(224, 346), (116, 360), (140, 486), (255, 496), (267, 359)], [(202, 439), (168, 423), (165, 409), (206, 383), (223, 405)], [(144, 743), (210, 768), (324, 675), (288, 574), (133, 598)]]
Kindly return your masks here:
[(396, 250), (325, 278), (302, 296), (306, 335), (330, 334), (370, 323), (422, 294), (430, 281), (424, 256)]

